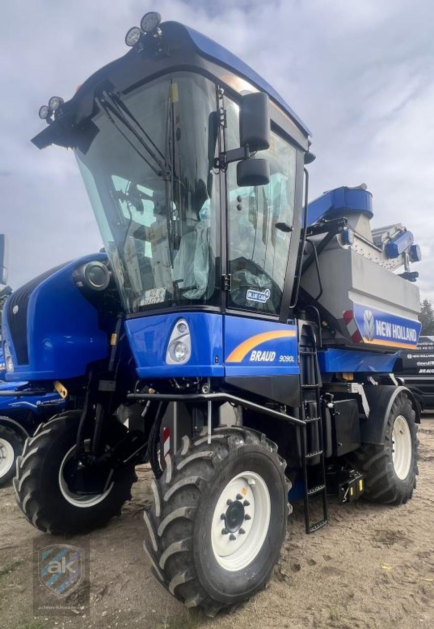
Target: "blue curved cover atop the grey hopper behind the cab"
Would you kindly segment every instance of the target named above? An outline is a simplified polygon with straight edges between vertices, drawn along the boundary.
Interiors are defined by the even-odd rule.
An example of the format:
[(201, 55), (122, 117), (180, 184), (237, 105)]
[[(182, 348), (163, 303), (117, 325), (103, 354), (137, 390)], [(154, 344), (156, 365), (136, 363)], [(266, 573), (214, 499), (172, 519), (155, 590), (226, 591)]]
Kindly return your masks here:
[(364, 212), (371, 219), (374, 216), (371, 192), (347, 186), (324, 192), (308, 205), (309, 225), (317, 223), (322, 218), (330, 220), (335, 216), (341, 216), (343, 211), (347, 216), (354, 212)]

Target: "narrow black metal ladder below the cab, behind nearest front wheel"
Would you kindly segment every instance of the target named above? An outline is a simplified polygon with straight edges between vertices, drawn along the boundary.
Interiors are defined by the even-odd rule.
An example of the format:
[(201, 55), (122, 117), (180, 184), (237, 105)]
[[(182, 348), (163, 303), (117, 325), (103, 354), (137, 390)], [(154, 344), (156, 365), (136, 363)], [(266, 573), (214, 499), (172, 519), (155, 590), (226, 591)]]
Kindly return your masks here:
[[(301, 465), (303, 472), (303, 497), (305, 503), (306, 532), (314, 533), (328, 523), (327, 487), (325, 482), (325, 453), (323, 443), (322, 411), (320, 400), (320, 377), (318, 370), (317, 349), (312, 347), (300, 347), (301, 377), (301, 417), (305, 425), (300, 427)], [(303, 382), (305, 377), (309, 380), (309, 374), (314, 376), (315, 383)], [(308, 452), (308, 428), (316, 425), (318, 433), (318, 447)], [(315, 431), (312, 431), (315, 434)], [(313, 441), (313, 440), (311, 440)], [(308, 462), (319, 457), (318, 484), (310, 487), (308, 482)], [(311, 523), (311, 501), (314, 496), (321, 496), (323, 517), (315, 523)]]

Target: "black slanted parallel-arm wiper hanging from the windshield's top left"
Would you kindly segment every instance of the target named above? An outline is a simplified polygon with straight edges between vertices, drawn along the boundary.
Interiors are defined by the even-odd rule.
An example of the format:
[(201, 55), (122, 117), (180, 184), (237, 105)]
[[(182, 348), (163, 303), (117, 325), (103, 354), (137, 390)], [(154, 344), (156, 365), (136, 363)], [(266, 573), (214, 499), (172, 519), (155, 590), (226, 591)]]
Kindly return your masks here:
[[(116, 127), (117, 131), (119, 131), (119, 133), (121, 133), (122, 137), (129, 143), (131, 148), (133, 148), (134, 151), (136, 153), (138, 153), (139, 157), (141, 157), (141, 159), (143, 159), (144, 162), (146, 162), (146, 164), (148, 164), (149, 168), (153, 172), (155, 172), (155, 174), (158, 175), (158, 177), (163, 177), (163, 179), (166, 179), (166, 177), (168, 175), (168, 172), (169, 172), (169, 175), (170, 175), (170, 169), (168, 169), (168, 166), (165, 164), (165, 162), (161, 161), (158, 158), (158, 156), (156, 155), (156, 153), (152, 150), (151, 147), (154, 146), (156, 148), (156, 150), (158, 151), (158, 153), (161, 153), (161, 151), (158, 149), (158, 147), (156, 147), (155, 143), (149, 138), (149, 135), (146, 133), (146, 131), (144, 131), (141, 128), (141, 126), (139, 125), (139, 127), (142, 130), (142, 133), (144, 133), (144, 137), (143, 137), (140, 133), (138, 133), (138, 131), (136, 131), (134, 129), (134, 127), (131, 125), (131, 123), (129, 123), (129, 121), (124, 116), (124, 114), (122, 113), (121, 109), (119, 108), (117, 103), (112, 99), (112, 97), (109, 96), (109, 94), (107, 92), (103, 92), (102, 95), (104, 96), (104, 100), (99, 99), (98, 97), (95, 98), (95, 101), (96, 101), (97, 105), (99, 106), (100, 110), (104, 114), (106, 114), (107, 118), (109, 118), (111, 123)], [(133, 116), (133, 118), (134, 118), (134, 116)], [(122, 130), (122, 127), (121, 127), (121, 125), (119, 125), (119, 122), (122, 123), (122, 125), (124, 125), (127, 128), (127, 130), (134, 136), (134, 138), (136, 138), (136, 140), (139, 142), (139, 144), (149, 153), (149, 156), (153, 160), (154, 164), (151, 163), (151, 160), (149, 159), (149, 156), (144, 155), (143, 152), (138, 150), (138, 148), (136, 147), (134, 142), (132, 142), (131, 139), (125, 133), (125, 131)], [(149, 140), (151, 142), (151, 146), (149, 146), (148, 138), (149, 138)], [(162, 153), (161, 153), (161, 155), (162, 155)], [(164, 158), (164, 156), (163, 156), (163, 158)]]

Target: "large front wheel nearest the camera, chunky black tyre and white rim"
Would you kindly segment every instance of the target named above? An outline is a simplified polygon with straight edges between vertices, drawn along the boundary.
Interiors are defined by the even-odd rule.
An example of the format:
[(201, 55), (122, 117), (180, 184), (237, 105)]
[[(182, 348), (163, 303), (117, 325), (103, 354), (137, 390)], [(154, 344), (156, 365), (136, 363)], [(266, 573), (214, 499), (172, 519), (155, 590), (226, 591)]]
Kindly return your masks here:
[(219, 428), (183, 446), (153, 482), (144, 549), (161, 583), (209, 615), (268, 581), (286, 535), (289, 483), (276, 445)]

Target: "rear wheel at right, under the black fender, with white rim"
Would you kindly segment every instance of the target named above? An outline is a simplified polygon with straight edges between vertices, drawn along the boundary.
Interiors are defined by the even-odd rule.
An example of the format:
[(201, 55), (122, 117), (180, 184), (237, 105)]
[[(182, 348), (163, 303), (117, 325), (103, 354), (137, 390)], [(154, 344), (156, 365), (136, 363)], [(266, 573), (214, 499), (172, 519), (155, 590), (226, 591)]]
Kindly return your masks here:
[(350, 457), (365, 478), (364, 497), (387, 504), (403, 504), (416, 487), (417, 426), (410, 399), (396, 396), (388, 416), (383, 445), (363, 445)]

